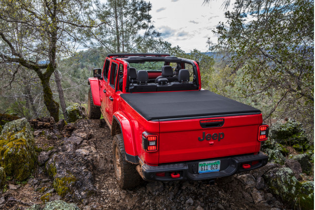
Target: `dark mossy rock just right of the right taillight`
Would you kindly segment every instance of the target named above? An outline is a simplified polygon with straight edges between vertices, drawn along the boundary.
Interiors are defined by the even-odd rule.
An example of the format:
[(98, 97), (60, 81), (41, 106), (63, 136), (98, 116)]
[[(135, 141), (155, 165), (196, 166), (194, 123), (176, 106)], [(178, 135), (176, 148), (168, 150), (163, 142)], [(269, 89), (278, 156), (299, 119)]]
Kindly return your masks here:
[(310, 147), (310, 142), (306, 137), (306, 132), (302, 124), (289, 119), (285, 123), (277, 122), (271, 127), (271, 138), (278, 143), (293, 146), (296, 151), (306, 151)]

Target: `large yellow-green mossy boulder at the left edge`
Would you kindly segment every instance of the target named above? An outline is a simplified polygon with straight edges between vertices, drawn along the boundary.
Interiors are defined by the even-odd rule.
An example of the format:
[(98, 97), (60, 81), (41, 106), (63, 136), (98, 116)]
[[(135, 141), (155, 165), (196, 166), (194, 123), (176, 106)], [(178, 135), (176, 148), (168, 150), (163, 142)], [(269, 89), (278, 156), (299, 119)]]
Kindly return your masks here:
[(11, 121), (0, 135), (0, 166), (17, 180), (28, 178), (37, 160), (31, 126), (25, 119)]

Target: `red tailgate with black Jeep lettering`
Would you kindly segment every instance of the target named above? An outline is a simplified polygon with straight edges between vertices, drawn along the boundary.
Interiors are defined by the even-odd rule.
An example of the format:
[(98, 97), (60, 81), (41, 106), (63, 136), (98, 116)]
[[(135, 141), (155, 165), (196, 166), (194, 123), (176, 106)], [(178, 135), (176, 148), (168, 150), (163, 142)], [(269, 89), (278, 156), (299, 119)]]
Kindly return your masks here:
[[(201, 120), (216, 119), (223, 119), (224, 124), (211, 128), (207, 126), (220, 126), (220, 123), (205, 123), (206, 127), (201, 127)], [(159, 163), (258, 152), (260, 142), (257, 135), (261, 123), (261, 114), (160, 121)]]

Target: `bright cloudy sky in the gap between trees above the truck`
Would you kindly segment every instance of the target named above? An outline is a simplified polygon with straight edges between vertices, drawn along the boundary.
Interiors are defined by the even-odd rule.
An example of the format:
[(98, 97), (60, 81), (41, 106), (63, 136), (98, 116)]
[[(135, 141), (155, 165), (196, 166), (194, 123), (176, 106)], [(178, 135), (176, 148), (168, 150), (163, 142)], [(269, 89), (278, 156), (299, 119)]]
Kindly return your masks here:
[[(218, 37), (212, 30), (220, 21), (226, 21), (222, 0), (212, 0), (202, 5), (203, 0), (150, 0), (152, 21), (161, 37), (172, 46), (179, 45), (185, 52), (197, 49), (207, 52), (210, 37), (216, 43)], [(232, 3), (228, 9), (232, 9)]]

